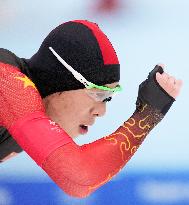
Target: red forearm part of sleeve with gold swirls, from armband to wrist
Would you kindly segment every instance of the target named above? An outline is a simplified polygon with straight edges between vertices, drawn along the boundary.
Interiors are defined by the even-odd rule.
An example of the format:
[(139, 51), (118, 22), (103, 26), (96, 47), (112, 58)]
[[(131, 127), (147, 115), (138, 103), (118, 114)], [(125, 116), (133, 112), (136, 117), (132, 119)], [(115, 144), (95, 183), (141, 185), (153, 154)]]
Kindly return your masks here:
[(162, 114), (144, 105), (114, 133), (93, 143), (56, 149), (42, 168), (66, 193), (85, 197), (108, 182), (134, 155)]

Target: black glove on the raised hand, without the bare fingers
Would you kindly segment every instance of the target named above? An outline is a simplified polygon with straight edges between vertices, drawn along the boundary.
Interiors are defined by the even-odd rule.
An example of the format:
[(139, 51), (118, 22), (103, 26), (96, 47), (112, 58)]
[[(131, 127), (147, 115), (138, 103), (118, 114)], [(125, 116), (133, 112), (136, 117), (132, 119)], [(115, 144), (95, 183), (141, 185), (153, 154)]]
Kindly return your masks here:
[(157, 82), (156, 73), (163, 73), (163, 68), (156, 65), (148, 78), (139, 85), (137, 107), (148, 104), (158, 109), (163, 115), (167, 113), (175, 99), (170, 96)]

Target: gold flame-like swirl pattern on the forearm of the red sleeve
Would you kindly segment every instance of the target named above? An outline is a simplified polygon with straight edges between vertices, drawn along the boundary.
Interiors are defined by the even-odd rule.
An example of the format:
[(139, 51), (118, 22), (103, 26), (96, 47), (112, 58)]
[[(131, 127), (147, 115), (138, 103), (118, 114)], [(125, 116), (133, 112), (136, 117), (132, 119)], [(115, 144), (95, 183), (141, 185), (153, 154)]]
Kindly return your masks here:
[[(147, 107), (147, 104), (145, 104), (140, 108), (139, 112), (144, 112)], [(120, 171), (123, 168), (125, 163), (130, 159), (130, 157), (136, 152), (136, 150), (140, 146), (142, 140), (144, 139), (143, 137), (148, 134), (149, 129), (151, 128), (149, 123), (151, 116), (149, 115), (148, 111), (146, 113), (148, 115), (144, 116), (143, 119), (134, 119), (133, 117), (129, 118), (128, 121), (124, 122), (124, 124), (121, 126), (121, 128), (124, 129), (119, 129), (115, 133), (104, 137), (105, 140), (110, 142), (110, 145), (119, 146), (121, 159), (124, 163), (117, 171)], [(99, 186), (105, 184), (116, 173), (114, 172), (114, 174), (109, 174), (105, 180), (99, 182), (94, 186), (90, 186), (89, 189), (96, 189)]]

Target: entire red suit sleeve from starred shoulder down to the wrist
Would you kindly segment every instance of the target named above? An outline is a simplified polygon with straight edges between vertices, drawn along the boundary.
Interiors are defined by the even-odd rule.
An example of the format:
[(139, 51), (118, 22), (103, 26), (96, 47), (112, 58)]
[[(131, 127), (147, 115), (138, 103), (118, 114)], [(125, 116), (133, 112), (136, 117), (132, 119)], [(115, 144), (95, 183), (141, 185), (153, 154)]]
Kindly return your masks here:
[(0, 122), (17, 143), (67, 194), (86, 197), (108, 182), (133, 156), (163, 115), (147, 104), (114, 133), (78, 146), (45, 116), (35, 85), (0, 64)]

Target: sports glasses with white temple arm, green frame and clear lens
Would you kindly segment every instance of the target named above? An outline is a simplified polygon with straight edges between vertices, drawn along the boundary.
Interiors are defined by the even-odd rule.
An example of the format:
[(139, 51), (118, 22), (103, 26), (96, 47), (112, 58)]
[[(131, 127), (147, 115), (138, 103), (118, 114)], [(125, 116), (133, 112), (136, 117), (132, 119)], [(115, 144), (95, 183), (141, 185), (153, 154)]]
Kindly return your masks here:
[[(74, 70), (72, 66), (67, 64), (65, 60), (61, 58), (60, 55), (52, 47), (49, 47), (49, 49), (53, 53), (53, 55), (58, 59), (58, 61), (62, 63), (72, 73), (75, 79), (77, 79), (80, 83), (82, 83), (85, 86), (86, 93), (95, 101), (108, 102), (112, 99), (115, 93), (122, 90), (120, 85), (117, 85), (115, 88), (109, 88), (102, 85), (96, 85), (86, 80), (79, 72)], [(97, 89), (97, 91), (94, 91), (92, 89)]]

